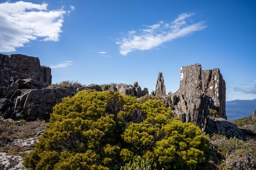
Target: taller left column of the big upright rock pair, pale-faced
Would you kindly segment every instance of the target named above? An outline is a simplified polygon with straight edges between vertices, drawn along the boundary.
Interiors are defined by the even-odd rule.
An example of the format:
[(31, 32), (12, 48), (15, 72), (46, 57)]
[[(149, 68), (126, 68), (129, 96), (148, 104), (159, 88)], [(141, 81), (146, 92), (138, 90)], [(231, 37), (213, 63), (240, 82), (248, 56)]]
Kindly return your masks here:
[(202, 91), (202, 67), (200, 64), (182, 66), (180, 88), (171, 95), (175, 114), (184, 122), (193, 122), (203, 130), (207, 129), (209, 108), (213, 104)]

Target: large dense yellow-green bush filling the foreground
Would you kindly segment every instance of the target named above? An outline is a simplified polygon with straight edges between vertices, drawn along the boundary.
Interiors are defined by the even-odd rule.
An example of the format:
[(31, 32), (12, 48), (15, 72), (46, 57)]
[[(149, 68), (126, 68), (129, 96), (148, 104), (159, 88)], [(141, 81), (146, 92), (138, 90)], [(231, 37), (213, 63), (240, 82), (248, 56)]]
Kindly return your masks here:
[(146, 163), (144, 168), (158, 170), (195, 169), (209, 148), (200, 128), (172, 117), (160, 100), (141, 104), (117, 92), (81, 91), (53, 110), (39, 143), (25, 157), (27, 168), (115, 170)]

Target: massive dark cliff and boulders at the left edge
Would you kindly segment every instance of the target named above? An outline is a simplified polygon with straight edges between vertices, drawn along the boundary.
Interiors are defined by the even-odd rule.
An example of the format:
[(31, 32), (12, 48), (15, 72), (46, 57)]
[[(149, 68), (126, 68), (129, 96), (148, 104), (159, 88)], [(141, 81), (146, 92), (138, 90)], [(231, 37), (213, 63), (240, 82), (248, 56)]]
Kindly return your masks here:
[(37, 57), (0, 54), (0, 115), (12, 119), (49, 119), (52, 107), (71, 96), (66, 88), (48, 88), (51, 68)]

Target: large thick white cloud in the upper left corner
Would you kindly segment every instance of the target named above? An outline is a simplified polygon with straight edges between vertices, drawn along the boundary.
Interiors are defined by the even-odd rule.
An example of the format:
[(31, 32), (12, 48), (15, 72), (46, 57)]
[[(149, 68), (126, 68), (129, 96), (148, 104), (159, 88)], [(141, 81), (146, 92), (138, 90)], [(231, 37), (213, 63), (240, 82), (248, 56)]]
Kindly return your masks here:
[(13, 52), (37, 38), (58, 41), (62, 32), (63, 9), (47, 10), (47, 4), (0, 3), (0, 52)]

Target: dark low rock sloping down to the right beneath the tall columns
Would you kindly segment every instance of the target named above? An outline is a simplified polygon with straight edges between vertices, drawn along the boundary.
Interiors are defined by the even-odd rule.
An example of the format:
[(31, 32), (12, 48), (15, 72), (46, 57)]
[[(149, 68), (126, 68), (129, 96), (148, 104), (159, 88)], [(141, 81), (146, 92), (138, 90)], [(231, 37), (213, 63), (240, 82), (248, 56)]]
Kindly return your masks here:
[(209, 132), (222, 133), (227, 137), (237, 137), (238, 139), (245, 140), (245, 133), (224, 118), (210, 117)]

